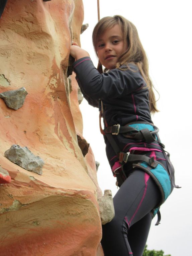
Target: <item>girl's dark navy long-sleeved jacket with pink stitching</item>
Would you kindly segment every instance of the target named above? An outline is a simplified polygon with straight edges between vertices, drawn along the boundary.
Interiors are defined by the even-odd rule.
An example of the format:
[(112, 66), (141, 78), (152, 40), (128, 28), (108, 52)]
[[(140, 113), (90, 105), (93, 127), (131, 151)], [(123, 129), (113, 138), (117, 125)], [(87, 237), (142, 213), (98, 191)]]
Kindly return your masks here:
[[(149, 108), (149, 91), (135, 64), (129, 64), (129, 69), (112, 69), (100, 74), (90, 57), (84, 57), (74, 62), (72, 67), (77, 75), (79, 87), (89, 104), (98, 107), (98, 99), (102, 100), (105, 126), (125, 125), (132, 122), (153, 124)], [(121, 134), (113, 137), (124, 152), (129, 151), (130, 147), (126, 147), (128, 144), (132, 147), (138, 146), (135, 140), (124, 138)], [(107, 158), (112, 167), (118, 158), (105, 136), (104, 139)], [(158, 148), (154, 145), (148, 147)]]

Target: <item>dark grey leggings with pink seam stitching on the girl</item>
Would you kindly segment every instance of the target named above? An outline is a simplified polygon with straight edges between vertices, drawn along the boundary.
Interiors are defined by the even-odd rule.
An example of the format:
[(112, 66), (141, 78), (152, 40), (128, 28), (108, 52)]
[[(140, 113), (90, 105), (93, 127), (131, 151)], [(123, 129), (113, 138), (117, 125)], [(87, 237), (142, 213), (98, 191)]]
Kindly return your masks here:
[(160, 198), (153, 179), (135, 168), (113, 198), (114, 219), (102, 226), (105, 256), (142, 256), (152, 221), (150, 211)]

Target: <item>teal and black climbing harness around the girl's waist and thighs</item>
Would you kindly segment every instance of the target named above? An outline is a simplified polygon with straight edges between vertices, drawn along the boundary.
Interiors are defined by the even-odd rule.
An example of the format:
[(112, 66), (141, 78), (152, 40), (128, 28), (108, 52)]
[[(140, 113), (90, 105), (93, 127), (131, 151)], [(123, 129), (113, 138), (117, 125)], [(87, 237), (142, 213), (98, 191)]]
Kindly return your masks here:
[[(157, 208), (153, 209), (152, 211), (153, 216), (155, 216), (156, 213), (158, 214), (158, 221), (156, 223), (156, 225), (158, 225), (161, 219), (161, 215), (159, 212), (160, 205), (171, 194), (173, 187), (180, 188), (179, 186), (175, 185), (174, 167), (170, 161), (170, 154), (167, 151), (165, 151), (165, 146), (160, 141), (160, 138), (158, 135), (158, 132), (159, 132), (158, 127), (148, 122), (132, 122), (124, 126), (120, 126), (120, 124), (115, 124), (113, 126), (107, 126), (104, 129), (102, 129), (101, 117), (103, 117), (103, 103), (101, 100), (99, 100), (100, 131), (103, 135), (106, 136), (113, 151), (117, 155), (124, 178), (126, 179), (127, 177), (123, 170), (123, 166), (124, 164), (129, 162), (129, 163), (132, 163), (133, 168), (138, 167), (139, 169), (142, 169), (145, 172), (147, 172), (150, 176), (153, 177), (156, 184), (158, 185), (162, 195), (162, 199), (160, 203), (157, 205)], [(134, 141), (136, 140), (137, 142), (139, 142), (140, 145), (139, 146), (137, 145), (137, 150), (139, 150), (140, 148), (140, 151), (142, 151), (141, 149), (142, 147), (146, 148), (146, 144), (147, 146), (149, 146), (149, 151), (150, 150), (153, 151), (154, 147), (155, 147), (155, 150), (157, 150), (156, 149), (157, 147), (161, 148), (161, 151), (163, 152), (164, 157), (167, 160), (168, 170), (166, 170), (166, 168), (160, 162), (156, 161), (154, 157), (148, 157), (146, 155), (130, 153), (131, 148), (134, 148), (132, 146), (128, 146), (126, 148), (126, 151), (125, 150), (122, 151), (114, 139), (114, 136), (118, 136), (118, 135), (122, 135), (127, 139), (134, 140)], [(153, 144), (153, 146), (150, 145), (151, 143)]]

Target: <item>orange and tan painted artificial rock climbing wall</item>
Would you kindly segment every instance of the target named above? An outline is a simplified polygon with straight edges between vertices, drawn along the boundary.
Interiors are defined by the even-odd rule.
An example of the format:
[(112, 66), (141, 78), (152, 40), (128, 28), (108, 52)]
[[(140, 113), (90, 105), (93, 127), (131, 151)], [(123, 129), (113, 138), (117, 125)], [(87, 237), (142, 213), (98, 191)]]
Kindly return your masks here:
[[(0, 93), (24, 87), (18, 110), (0, 99), (0, 256), (100, 256), (95, 160), (77, 142), (77, 83), (67, 78), (72, 36), (80, 43), (82, 0), (8, 0), (0, 18)], [(42, 175), (10, 162), (13, 144), (44, 161)]]

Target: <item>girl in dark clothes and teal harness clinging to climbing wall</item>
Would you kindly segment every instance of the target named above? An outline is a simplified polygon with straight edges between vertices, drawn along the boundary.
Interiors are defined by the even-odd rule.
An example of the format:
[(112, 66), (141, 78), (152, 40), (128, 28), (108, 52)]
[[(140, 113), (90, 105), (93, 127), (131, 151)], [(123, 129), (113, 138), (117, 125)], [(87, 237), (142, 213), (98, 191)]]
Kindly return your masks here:
[(105, 256), (142, 256), (152, 218), (175, 187), (174, 169), (151, 119), (158, 110), (135, 26), (118, 15), (102, 18), (93, 30), (93, 45), (97, 69), (77, 44), (70, 54), (84, 97), (100, 107), (106, 154), (120, 187), (113, 199), (115, 217), (103, 225), (101, 244)]

